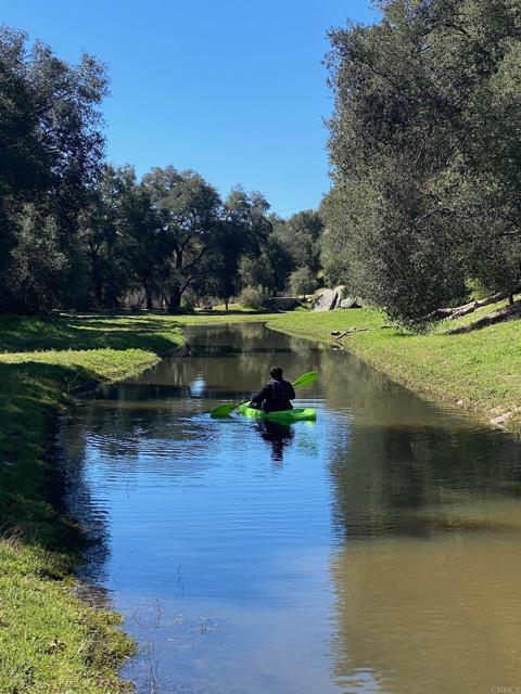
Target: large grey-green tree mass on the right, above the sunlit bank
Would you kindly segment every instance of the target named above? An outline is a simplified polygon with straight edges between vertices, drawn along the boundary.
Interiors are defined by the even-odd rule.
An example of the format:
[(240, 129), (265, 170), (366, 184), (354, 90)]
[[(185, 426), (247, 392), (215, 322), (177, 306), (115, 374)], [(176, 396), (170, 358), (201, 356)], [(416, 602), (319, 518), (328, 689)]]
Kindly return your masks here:
[(402, 321), (521, 285), (521, 2), (386, 0), (330, 34), (323, 261)]

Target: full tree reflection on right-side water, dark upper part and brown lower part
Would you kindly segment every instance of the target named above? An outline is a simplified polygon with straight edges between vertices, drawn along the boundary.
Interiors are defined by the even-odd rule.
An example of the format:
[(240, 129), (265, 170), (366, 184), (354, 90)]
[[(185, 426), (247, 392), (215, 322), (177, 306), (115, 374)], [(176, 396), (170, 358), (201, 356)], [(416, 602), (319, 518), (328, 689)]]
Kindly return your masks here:
[[(326, 367), (327, 368), (327, 367)], [(347, 692), (488, 693), (521, 682), (521, 457), (364, 370), (334, 429), (331, 650)]]

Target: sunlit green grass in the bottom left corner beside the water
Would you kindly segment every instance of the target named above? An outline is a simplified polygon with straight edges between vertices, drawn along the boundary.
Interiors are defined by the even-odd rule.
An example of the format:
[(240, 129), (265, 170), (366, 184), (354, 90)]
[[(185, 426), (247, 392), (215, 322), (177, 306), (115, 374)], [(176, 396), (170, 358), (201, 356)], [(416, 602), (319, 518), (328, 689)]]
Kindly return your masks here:
[(115, 668), (131, 643), (117, 615), (74, 596), (69, 558), (38, 545), (0, 544), (0, 691), (98, 694), (127, 691)]

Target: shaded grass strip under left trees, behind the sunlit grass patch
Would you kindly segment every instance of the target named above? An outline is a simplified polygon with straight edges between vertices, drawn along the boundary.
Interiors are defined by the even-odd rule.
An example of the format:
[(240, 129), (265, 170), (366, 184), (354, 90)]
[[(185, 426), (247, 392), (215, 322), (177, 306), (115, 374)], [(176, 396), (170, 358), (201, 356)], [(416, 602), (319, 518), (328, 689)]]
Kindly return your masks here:
[(0, 351), (145, 349), (166, 355), (180, 344), (181, 324), (130, 316), (0, 317)]

